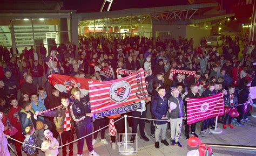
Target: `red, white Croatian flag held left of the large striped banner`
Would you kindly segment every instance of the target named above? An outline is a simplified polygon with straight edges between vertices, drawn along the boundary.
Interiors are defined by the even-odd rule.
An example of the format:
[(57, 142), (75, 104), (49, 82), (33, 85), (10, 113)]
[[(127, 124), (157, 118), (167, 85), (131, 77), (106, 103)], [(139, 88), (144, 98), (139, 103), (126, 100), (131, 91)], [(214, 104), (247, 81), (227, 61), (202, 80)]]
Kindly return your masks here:
[(80, 77), (52, 74), (48, 76), (48, 81), (60, 92), (69, 93), (72, 87), (77, 84), (77, 87), (81, 91), (81, 95), (87, 95), (89, 93), (89, 81), (98, 82), (98, 80), (85, 79)]

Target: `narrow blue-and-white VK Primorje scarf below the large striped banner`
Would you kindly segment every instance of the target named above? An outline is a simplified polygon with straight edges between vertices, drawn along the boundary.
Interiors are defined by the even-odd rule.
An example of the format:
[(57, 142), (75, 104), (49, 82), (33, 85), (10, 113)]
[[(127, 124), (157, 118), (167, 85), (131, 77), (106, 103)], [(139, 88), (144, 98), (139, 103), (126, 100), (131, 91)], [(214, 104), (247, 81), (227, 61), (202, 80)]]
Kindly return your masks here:
[(104, 118), (104, 117), (107, 117), (107, 116), (124, 114), (126, 112), (130, 112), (130, 111), (133, 111), (133, 110), (136, 110), (136, 109), (141, 109), (141, 108), (142, 108), (142, 103), (140, 103), (140, 102), (133, 103), (133, 104), (130, 104), (130, 105), (125, 105), (123, 107), (98, 112), (97, 114), (93, 114), (92, 118), (93, 118), (93, 120), (95, 120), (95, 119)]

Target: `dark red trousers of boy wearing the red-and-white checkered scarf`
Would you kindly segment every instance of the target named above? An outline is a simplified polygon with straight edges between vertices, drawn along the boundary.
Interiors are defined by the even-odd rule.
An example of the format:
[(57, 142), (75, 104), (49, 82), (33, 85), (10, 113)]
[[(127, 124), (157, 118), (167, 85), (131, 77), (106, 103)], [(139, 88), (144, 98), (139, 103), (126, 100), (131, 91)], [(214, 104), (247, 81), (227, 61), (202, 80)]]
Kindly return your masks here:
[[(70, 143), (74, 140), (74, 130), (70, 131), (63, 131), (61, 134), (62, 137), (62, 145), (66, 144), (67, 142)], [(65, 156), (66, 153), (66, 146), (62, 147), (62, 155)], [(69, 144), (69, 156), (73, 155), (73, 143)]]

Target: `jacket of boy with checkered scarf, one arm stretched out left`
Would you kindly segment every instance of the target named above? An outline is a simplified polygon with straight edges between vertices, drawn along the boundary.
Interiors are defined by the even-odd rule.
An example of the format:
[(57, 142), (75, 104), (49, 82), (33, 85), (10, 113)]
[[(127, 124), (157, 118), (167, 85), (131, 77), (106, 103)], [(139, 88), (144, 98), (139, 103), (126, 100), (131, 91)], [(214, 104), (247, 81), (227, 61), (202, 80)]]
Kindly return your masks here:
[[(70, 107), (68, 107), (68, 110), (69, 109), (70, 109)], [(47, 117), (54, 117), (54, 123), (56, 125), (56, 130), (59, 133), (62, 133), (63, 129), (64, 129), (63, 126), (64, 126), (65, 113), (66, 113), (66, 108), (63, 105), (61, 105), (59, 108), (48, 111), (48, 112), (44, 112), (42, 115), (47, 116)], [(69, 111), (69, 116), (71, 119), (71, 127), (73, 128), (75, 123), (74, 123), (73, 118), (71, 117), (70, 111)]]

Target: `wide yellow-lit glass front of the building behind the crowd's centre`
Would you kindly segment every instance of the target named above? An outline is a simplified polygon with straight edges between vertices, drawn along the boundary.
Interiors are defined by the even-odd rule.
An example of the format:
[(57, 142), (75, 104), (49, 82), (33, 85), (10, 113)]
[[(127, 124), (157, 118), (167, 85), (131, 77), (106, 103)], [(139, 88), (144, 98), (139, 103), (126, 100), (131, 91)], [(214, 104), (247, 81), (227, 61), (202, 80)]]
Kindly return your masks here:
[(126, 16), (80, 21), (78, 33), (80, 36), (86, 37), (145, 36), (150, 38), (152, 34), (151, 27), (149, 15)]

